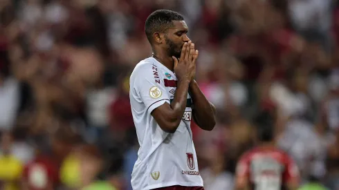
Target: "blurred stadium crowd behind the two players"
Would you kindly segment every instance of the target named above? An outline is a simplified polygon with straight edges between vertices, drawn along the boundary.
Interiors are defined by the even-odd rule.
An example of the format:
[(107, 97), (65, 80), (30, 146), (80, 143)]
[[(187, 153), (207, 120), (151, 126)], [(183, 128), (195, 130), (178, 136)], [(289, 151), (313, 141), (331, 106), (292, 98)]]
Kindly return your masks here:
[(184, 15), (218, 109), (213, 131), (192, 124), (205, 189), (232, 189), (264, 112), (302, 185), (339, 189), (335, 0), (1, 0), (0, 189), (131, 190), (129, 75), (160, 8)]

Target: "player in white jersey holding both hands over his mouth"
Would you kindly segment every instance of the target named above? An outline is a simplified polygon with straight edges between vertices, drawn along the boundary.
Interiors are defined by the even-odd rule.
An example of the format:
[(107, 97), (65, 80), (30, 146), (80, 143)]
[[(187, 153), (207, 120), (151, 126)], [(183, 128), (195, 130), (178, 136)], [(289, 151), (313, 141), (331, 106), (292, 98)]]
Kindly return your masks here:
[(203, 189), (190, 124), (215, 125), (215, 108), (194, 80), (198, 50), (183, 16), (156, 10), (145, 22), (153, 55), (130, 77), (129, 97), (140, 149), (131, 175), (135, 190)]

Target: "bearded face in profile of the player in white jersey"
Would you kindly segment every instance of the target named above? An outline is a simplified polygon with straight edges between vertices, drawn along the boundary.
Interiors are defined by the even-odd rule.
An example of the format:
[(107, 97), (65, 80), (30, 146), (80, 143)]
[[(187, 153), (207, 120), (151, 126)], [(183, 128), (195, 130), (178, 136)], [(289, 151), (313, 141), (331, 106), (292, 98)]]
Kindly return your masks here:
[(187, 37), (188, 28), (185, 21), (173, 21), (174, 27), (165, 33), (165, 42), (169, 56), (179, 58), (183, 44), (190, 39)]

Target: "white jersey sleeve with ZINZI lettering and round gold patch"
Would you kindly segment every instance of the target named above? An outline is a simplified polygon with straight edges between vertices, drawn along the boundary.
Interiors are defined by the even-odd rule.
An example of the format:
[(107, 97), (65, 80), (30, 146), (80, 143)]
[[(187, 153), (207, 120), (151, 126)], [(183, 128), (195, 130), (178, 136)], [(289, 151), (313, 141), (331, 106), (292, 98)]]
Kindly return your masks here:
[(170, 104), (170, 97), (166, 91), (163, 78), (158, 68), (152, 64), (142, 66), (136, 75), (136, 91), (143, 101), (149, 114), (155, 108), (167, 102)]

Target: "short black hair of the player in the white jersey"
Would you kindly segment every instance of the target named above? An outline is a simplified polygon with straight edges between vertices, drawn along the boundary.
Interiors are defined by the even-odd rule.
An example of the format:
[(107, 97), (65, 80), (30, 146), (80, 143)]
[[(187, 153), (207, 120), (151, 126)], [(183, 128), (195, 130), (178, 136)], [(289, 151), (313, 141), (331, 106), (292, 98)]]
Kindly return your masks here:
[(183, 16), (173, 10), (156, 10), (145, 21), (145, 34), (150, 44), (155, 32), (164, 32), (173, 27), (172, 21), (183, 21)]

